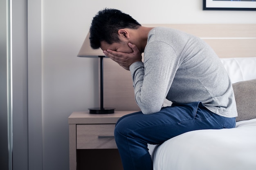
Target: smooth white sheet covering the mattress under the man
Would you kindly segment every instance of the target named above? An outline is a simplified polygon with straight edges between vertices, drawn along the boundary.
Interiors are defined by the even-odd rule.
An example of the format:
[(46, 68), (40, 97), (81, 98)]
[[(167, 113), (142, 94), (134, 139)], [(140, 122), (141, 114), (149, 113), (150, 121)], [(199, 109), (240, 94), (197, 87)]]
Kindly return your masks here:
[(154, 170), (256, 170), (256, 119), (186, 132), (148, 148)]

